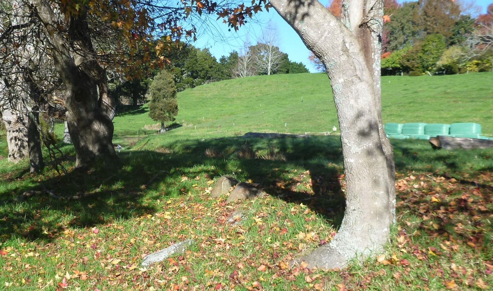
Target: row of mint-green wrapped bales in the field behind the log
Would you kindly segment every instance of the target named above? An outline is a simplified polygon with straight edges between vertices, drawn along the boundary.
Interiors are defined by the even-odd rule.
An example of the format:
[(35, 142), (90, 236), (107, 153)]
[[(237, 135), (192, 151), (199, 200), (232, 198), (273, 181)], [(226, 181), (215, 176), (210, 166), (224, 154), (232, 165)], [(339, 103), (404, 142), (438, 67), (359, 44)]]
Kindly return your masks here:
[(451, 136), (460, 138), (488, 139), (481, 135), (481, 125), (472, 122), (442, 123), (387, 123), (384, 126), (389, 138), (428, 140), (430, 137)]

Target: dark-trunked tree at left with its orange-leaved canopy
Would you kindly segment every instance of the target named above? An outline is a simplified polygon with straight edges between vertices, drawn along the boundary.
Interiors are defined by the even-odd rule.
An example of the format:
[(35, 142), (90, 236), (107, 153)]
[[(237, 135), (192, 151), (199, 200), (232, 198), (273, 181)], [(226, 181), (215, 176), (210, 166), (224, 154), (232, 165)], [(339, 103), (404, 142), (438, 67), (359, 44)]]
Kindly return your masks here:
[[(178, 48), (185, 36), (194, 37), (193, 26), (184, 29), (183, 20), (191, 13), (217, 8), (215, 3), (206, 3), (206, 10), (202, 9), (206, 6), (202, 2), (194, 2), (192, 6), (186, 1), (178, 4), (150, 0), (2, 3), (0, 16), (11, 21), (3, 21), (0, 27), (0, 49), (5, 53), (0, 58), (0, 68), (6, 68), (1, 75), (10, 77), (8, 68), (12, 63), (17, 62), (21, 71), (27, 72), (39, 70), (39, 66), (30, 68), (30, 64), (48, 60), (48, 67), (55, 69), (65, 92), (59, 104), (64, 111), (56, 117), (68, 123), (76, 166), (87, 166), (100, 157), (114, 158), (111, 120), (115, 102), (108, 95), (106, 72), (123, 73), (131, 79), (145, 73), (144, 68), (166, 65), (167, 52)], [(17, 48), (21, 44), (17, 38), (25, 40), (22, 45), (32, 50), (30, 55), (20, 56)], [(2, 77), (1, 86), (13, 88), (5, 79), (9, 78)], [(45, 90), (47, 83), (50, 82), (33, 79), (33, 86), (27, 89), (40, 92), (41, 99), (53, 107), (54, 101)], [(39, 101), (37, 98), (35, 103)]]

